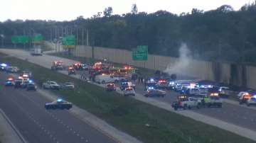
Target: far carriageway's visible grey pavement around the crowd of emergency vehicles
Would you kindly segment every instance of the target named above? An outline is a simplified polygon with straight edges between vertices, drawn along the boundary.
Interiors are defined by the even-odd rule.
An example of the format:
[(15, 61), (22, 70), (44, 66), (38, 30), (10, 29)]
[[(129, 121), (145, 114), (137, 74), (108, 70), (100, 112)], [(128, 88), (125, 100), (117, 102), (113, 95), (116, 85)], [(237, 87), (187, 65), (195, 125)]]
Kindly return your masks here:
[[(53, 60), (63, 60), (65, 65), (70, 65), (75, 63), (75, 61), (70, 59), (64, 59), (60, 57), (54, 57), (49, 55), (43, 55), (42, 57), (31, 57), (27, 52), (21, 52), (18, 50), (4, 50), (5, 53), (21, 58), (28, 59), (29, 62), (39, 64), (43, 67), (50, 68), (51, 62)], [(61, 71), (64, 74), (68, 74), (68, 71)], [(85, 71), (86, 73), (86, 71)], [(81, 71), (78, 72), (81, 74)], [(88, 74), (87, 74), (88, 75)], [(76, 75), (76, 77), (80, 77)], [(139, 93), (137, 96), (144, 95), (143, 84), (138, 84), (136, 87), (136, 92)], [(164, 98), (154, 98), (159, 103), (168, 103), (171, 106), (171, 102), (176, 100), (178, 93), (174, 91), (166, 91), (166, 97)], [(146, 100), (146, 99), (145, 99)], [(178, 110), (176, 112), (183, 112), (183, 110)], [(199, 113), (201, 115), (207, 115), (210, 118), (215, 118), (222, 120), (233, 125), (238, 125), (240, 127), (245, 127), (246, 129), (256, 131), (256, 107), (247, 108), (245, 105), (234, 105), (227, 102), (223, 103), (223, 108), (201, 108), (191, 110), (193, 113)]]

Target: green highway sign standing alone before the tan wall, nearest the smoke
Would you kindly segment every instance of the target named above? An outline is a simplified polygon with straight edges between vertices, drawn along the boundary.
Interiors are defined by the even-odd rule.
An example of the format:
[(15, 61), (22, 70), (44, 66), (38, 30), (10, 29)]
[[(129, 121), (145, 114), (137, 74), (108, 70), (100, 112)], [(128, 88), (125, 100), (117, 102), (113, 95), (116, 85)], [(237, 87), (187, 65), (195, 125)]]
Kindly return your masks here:
[(137, 46), (137, 49), (132, 51), (132, 59), (134, 61), (146, 61), (148, 59), (148, 46)]

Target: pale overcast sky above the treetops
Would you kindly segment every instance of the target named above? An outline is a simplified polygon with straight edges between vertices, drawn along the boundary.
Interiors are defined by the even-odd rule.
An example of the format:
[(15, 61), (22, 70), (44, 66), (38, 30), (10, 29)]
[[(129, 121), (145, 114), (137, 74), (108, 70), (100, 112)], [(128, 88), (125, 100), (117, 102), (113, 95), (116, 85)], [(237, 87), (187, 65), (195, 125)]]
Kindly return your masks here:
[(139, 12), (153, 13), (159, 10), (180, 14), (191, 12), (192, 8), (209, 11), (224, 4), (239, 10), (254, 0), (0, 0), (0, 21), (55, 20), (70, 21), (78, 16), (90, 18), (97, 12), (111, 6), (113, 14), (129, 13), (132, 4)]

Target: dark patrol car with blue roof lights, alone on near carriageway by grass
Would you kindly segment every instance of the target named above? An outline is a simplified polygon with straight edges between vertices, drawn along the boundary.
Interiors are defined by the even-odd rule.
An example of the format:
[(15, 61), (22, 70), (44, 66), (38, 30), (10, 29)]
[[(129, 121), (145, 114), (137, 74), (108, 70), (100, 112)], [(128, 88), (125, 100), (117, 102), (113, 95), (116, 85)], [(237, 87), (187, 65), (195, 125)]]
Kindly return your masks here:
[(52, 103), (46, 103), (45, 104), (45, 108), (46, 110), (48, 109), (70, 109), (73, 107), (73, 104), (68, 102), (68, 101), (64, 101), (63, 99), (57, 99), (57, 101), (53, 101)]

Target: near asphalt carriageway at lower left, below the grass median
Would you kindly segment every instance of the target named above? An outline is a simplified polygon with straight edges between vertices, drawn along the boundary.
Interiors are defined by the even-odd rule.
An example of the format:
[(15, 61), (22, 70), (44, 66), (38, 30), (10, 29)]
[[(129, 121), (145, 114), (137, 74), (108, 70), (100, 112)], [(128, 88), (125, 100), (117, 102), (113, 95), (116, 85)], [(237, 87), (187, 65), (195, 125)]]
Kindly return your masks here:
[(68, 110), (45, 110), (49, 102), (37, 91), (5, 87), (8, 74), (0, 72), (0, 108), (28, 142), (115, 142)]

